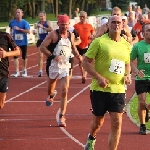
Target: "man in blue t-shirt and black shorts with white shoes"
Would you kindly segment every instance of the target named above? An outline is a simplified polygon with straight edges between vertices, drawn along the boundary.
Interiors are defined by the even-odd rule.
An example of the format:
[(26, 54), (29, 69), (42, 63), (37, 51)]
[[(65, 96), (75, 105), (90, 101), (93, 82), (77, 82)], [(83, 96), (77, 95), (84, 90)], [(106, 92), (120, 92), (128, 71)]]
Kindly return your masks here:
[[(22, 9), (17, 9), (16, 17), (10, 21), (9, 27), (11, 29), (11, 35), (13, 36), (15, 43), (22, 51), (22, 76), (27, 77), (27, 33), (30, 33), (30, 25), (26, 20), (22, 19), (22, 16)], [(14, 56), (14, 64), (16, 72), (13, 76), (18, 77), (20, 76), (18, 56)]]

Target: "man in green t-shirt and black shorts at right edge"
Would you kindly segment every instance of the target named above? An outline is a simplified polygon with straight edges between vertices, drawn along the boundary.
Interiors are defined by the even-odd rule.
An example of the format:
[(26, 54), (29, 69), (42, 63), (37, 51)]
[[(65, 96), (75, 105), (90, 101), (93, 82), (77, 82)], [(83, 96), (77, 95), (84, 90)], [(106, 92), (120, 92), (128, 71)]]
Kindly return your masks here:
[[(139, 134), (146, 135), (146, 93), (150, 91), (150, 23), (143, 25), (144, 40), (135, 44), (131, 51), (131, 67), (135, 73), (135, 91), (138, 95)], [(136, 66), (134, 65), (136, 60)], [(150, 104), (147, 105), (150, 109)], [(148, 113), (148, 111), (147, 111)], [(147, 114), (148, 116), (148, 114)]]

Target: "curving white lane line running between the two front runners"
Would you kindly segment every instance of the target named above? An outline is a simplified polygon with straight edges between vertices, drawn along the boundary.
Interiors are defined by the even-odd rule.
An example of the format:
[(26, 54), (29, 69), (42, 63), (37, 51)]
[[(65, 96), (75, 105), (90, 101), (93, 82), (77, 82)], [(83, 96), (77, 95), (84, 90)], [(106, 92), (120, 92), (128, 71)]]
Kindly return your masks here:
[[(88, 86), (86, 86), (85, 88), (83, 88), (79, 93), (75, 94), (72, 98), (70, 98), (68, 100), (67, 103), (70, 103), (74, 98), (76, 98), (77, 96), (79, 96), (81, 93), (83, 93), (86, 89), (88, 89), (90, 87), (90, 84)], [(60, 109), (57, 111), (56, 113), (56, 121), (58, 122), (59, 120), (59, 112)], [(72, 139), (74, 142), (76, 142), (77, 144), (81, 145), (82, 147), (85, 147), (84, 144), (82, 144), (80, 141), (78, 141), (75, 137), (73, 137), (69, 132), (67, 132), (67, 130), (63, 127), (60, 127), (60, 129), (62, 130), (62, 132), (64, 132), (64, 134), (66, 134), (70, 139)]]

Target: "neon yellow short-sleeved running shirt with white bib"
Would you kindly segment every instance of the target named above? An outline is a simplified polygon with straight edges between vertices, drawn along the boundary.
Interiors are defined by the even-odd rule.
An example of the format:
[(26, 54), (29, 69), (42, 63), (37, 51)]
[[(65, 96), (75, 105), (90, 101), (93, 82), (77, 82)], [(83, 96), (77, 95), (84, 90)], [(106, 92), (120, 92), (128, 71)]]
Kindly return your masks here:
[(93, 40), (85, 56), (94, 59), (94, 69), (108, 79), (109, 84), (107, 88), (102, 88), (93, 78), (90, 90), (125, 93), (125, 64), (130, 62), (130, 51), (130, 43), (122, 37), (120, 42), (115, 42), (106, 33)]

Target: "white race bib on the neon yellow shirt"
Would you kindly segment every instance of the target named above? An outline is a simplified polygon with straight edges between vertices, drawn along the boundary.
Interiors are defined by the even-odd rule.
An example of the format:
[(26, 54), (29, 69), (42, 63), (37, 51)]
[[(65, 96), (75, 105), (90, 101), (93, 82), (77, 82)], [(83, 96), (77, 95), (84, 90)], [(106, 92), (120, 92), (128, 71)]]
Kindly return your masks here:
[(125, 71), (125, 63), (117, 59), (112, 59), (109, 71), (116, 74), (123, 74)]

